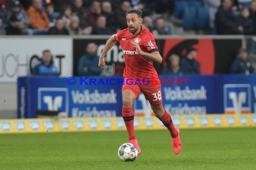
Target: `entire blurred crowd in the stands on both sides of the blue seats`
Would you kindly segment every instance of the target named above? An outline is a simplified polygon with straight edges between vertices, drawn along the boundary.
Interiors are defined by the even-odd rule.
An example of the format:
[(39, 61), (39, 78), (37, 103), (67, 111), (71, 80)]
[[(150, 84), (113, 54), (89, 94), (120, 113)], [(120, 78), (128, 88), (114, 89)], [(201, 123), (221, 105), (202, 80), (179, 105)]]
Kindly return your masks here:
[[(172, 26), (182, 28), (174, 14), (177, 1), (186, 0), (0, 0), (0, 35), (114, 34), (127, 27), (130, 8), (142, 10), (143, 25), (154, 35), (167, 35)], [(190, 1), (207, 8), (205, 29), (256, 34), (256, 0)]]

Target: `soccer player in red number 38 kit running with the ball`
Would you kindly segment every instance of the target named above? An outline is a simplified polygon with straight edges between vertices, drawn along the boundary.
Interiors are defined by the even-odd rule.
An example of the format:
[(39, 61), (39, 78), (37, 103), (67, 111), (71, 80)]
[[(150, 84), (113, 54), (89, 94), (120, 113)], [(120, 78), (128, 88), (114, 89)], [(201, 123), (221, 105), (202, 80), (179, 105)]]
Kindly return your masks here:
[[(104, 57), (106, 53), (115, 45), (116, 42), (119, 42), (124, 52), (126, 65), (123, 75), (124, 82), (127, 82), (127, 79), (132, 79), (134, 81), (139, 79), (140, 82), (142, 82), (142, 80), (145, 79), (148, 80), (152, 77), (158, 77), (153, 66), (153, 61), (162, 63), (162, 57), (159, 54), (153, 35), (149, 30), (146, 30), (146, 28), (141, 26), (141, 17), (141, 10), (128, 10), (126, 13), (128, 28), (120, 30), (108, 39), (99, 58), (98, 66), (104, 68)], [(159, 81), (159, 79), (157, 80)], [(132, 83), (130, 82), (128, 84), (125, 83), (122, 88), (122, 116), (126, 125), (130, 143), (135, 145), (138, 150), (138, 154), (140, 154), (141, 149), (134, 134), (132, 105), (142, 91), (145, 98), (150, 102), (154, 115), (160, 119), (170, 131), (172, 136), (173, 152), (175, 154), (180, 153), (182, 148), (180, 131), (172, 122), (171, 115), (163, 109), (160, 82), (158, 84), (154, 83), (154, 85), (152, 83), (149, 83), (149, 85), (145, 85), (144, 83), (131, 84)]]

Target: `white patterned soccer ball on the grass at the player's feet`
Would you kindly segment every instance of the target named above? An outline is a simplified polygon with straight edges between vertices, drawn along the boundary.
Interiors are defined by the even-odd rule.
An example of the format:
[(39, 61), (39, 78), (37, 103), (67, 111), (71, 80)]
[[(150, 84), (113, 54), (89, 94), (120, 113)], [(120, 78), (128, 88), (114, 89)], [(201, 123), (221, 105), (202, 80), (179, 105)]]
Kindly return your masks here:
[(125, 143), (119, 147), (117, 154), (121, 161), (134, 161), (138, 156), (138, 151), (133, 144)]

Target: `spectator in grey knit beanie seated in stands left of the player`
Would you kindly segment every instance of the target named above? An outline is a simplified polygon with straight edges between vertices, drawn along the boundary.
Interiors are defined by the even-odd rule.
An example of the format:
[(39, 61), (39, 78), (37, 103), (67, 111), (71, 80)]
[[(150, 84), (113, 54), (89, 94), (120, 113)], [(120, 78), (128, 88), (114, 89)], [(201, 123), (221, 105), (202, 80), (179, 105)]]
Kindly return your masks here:
[(82, 29), (79, 25), (80, 20), (77, 16), (71, 17), (71, 24), (67, 28), (70, 35), (82, 35), (82, 34), (91, 34), (92, 30), (89, 30), (87, 28)]

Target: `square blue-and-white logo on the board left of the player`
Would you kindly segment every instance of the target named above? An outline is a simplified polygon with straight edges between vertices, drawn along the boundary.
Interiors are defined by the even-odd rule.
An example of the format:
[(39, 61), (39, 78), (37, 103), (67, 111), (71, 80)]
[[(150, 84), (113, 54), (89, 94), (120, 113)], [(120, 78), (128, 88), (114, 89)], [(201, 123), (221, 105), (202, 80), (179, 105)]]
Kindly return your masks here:
[(38, 88), (38, 109), (68, 113), (67, 88)]

